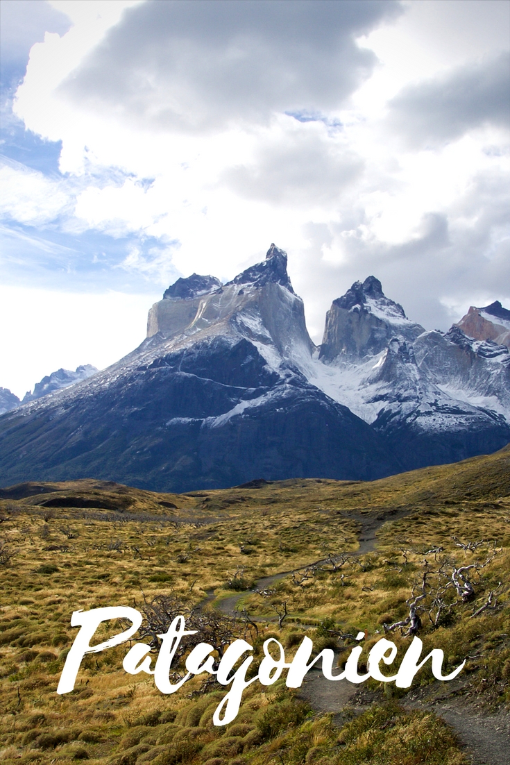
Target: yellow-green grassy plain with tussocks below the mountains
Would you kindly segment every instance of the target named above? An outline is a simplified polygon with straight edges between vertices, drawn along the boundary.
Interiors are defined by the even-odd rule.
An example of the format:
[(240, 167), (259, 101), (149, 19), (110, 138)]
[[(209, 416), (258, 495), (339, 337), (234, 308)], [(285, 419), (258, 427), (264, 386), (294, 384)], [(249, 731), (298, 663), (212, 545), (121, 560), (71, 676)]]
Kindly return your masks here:
[[(510, 703), (508, 447), (372, 483), (288, 480), (184, 495), (26, 483), (0, 490), (0, 520), (0, 758), (10, 765), (461, 765), (427, 698), (440, 691), (488, 710)], [(455, 577), (474, 595), (463, 600)], [(292, 656), (307, 634), (317, 651), (336, 649), (341, 666), (356, 644), (349, 635), (365, 630), (362, 668), (420, 594), (425, 649), (442, 648), (447, 669), (469, 658), (451, 688), (421, 670), (407, 694), (421, 698), (415, 709), (407, 692), (372, 680), (369, 701), (341, 718), (317, 713), (282, 681), (255, 682), (236, 720), (218, 728), (225, 688), (200, 675), (162, 695), (150, 676), (124, 672), (125, 645), (89, 654), (75, 690), (56, 694), (74, 610), (141, 608), (163, 595), (228, 613), (236, 601), (252, 623), (229, 629), (255, 646), (256, 662), (268, 636)], [(387, 635), (399, 657), (407, 632), (404, 624)]]

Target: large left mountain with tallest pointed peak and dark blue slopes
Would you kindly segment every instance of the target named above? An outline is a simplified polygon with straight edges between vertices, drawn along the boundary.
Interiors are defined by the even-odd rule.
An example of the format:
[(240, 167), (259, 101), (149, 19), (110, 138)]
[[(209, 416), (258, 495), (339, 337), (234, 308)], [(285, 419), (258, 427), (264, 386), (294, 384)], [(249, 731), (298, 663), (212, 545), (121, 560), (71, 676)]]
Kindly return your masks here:
[(164, 298), (125, 359), (2, 418), (2, 483), (94, 476), (182, 491), (398, 471), (378, 434), (300, 372), (313, 343), (286, 259), (273, 246), (229, 285)]

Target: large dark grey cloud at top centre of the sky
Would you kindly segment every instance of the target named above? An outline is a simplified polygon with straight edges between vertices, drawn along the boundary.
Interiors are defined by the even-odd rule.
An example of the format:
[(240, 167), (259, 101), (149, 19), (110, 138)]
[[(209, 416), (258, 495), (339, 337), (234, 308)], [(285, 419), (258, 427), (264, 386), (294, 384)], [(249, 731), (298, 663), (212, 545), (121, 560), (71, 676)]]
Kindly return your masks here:
[(334, 109), (376, 61), (355, 38), (401, 12), (395, 0), (150, 0), (63, 87), (152, 128), (198, 132)]

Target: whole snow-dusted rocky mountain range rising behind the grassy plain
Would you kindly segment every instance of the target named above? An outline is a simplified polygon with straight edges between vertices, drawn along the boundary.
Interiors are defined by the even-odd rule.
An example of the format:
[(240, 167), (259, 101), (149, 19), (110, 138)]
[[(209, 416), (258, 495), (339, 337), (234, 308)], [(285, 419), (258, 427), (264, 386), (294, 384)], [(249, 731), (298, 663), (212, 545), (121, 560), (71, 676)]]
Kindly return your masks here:
[(491, 453), (510, 441), (509, 317), (493, 303), (426, 331), (369, 276), (333, 301), (316, 347), (271, 245), (224, 285), (177, 279), (140, 347), (2, 415), (0, 481), (182, 492), (372, 480)]

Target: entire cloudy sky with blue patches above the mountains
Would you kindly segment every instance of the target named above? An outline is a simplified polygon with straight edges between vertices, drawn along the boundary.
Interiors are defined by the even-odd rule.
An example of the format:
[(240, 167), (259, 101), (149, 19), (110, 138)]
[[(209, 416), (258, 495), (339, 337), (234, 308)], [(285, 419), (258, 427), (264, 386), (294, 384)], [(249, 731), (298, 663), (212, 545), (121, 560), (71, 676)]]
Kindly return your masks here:
[(113, 363), (193, 271), (289, 254), (510, 308), (507, 0), (2, 0), (0, 386)]

